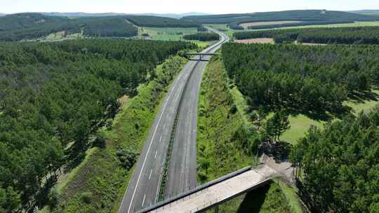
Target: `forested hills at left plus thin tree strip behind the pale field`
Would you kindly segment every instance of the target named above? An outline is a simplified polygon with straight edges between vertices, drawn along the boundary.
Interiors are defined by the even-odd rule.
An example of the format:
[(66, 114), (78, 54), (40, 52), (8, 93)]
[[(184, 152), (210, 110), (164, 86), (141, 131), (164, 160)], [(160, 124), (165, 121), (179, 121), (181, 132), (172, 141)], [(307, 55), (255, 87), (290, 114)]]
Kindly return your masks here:
[(18, 13), (0, 17), (0, 41), (37, 39), (56, 32), (84, 36), (136, 36), (140, 27), (198, 27), (190, 20), (148, 15), (117, 15), (68, 18), (41, 13)]

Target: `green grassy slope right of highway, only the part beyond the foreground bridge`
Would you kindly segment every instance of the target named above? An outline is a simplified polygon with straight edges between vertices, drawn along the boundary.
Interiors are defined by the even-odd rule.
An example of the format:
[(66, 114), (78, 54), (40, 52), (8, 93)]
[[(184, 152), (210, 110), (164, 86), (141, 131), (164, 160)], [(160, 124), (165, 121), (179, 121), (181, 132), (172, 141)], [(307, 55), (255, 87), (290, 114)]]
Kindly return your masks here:
[(244, 123), (231, 111), (233, 99), (226, 80), (220, 60), (208, 64), (199, 97), (197, 160), (201, 183), (253, 163), (241, 150), (239, 139), (233, 137)]

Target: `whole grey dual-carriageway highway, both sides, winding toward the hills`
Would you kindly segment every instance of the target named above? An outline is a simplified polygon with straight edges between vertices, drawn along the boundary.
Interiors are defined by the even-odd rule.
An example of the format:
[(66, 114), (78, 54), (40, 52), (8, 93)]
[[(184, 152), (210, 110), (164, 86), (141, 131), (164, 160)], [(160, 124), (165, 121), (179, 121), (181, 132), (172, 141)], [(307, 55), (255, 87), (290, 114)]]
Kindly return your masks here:
[[(220, 34), (220, 38), (222, 39), (220, 39), (218, 43), (216, 43), (214, 46), (211, 46), (210, 48), (206, 48), (206, 50), (203, 52), (208, 53), (209, 51), (210, 53), (213, 53), (213, 51), (218, 49), (222, 43), (227, 41), (227, 36), (224, 34)], [(207, 57), (204, 57), (204, 59), (206, 58)], [(180, 104), (181, 95), (185, 95), (185, 99), (183, 99), (182, 102), (183, 106), (181, 108), (189, 110), (188, 114), (191, 114), (192, 116), (183, 116), (187, 113), (185, 111), (182, 113), (181, 109), (177, 129), (182, 130), (183, 133), (178, 132), (177, 136), (181, 134), (186, 135), (185, 144), (186, 146), (192, 148), (176, 148), (177, 151), (186, 150), (186, 153), (182, 154), (188, 154), (190, 157), (184, 158), (183, 156), (183, 158), (178, 158), (178, 155), (182, 154), (176, 153), (174, 150), (176, 146), (173, 146), (171, 162), (173, 160), (178, 160), (180, 162), (184, 160), (186, 163), (179, 163), (178, 165), (175, 165), (175, 167), (180, 167), (180, 170), (178, 170), (178, 172), (183, 172), (184, 175), (178, 177), (170, 176), (171, 178), (168, 179), (167, 184), (168, 186), (172, 185), (173, 189), (175, 190), (177, 188), (177, 184), (171, 184), (171, 181), (182, 184), (183, 181), (180, 179), (183, 179), (186, 180), (186, 183), (189, 181), (190, 183), (196, 184), (197, 96), (199, 95), (201, 74), (204, 71), (205, 66), (206, 62), (189, 61), (187, 64), (185, 64), (185, 67), (183, 67), (182, 71), (180, 71), (180, 74), (178, 74), (178, 76), (173, 81), (173, 84), (171, 85), (170, 90), (168, 90), (165, 100), (161, 105), (161, 109), (155, 118), (154, 124), (150, 129), (145, 145), (142, 148), (142, 152), (138, 158), (133, 176), (129, 181), (128, 188), (126, 189), (126, 193), (119, 207), (119, 213), (136, 212), (157, 202), (162, 172), (164, 170), (164, 160), (166, 159), (166, 153), (168, 149), (168, 142), (170, 140), (171, 130), (173, 129), (175, 113)], [(191, 74), (192, 72), (193, 74)], [(190, 82), (185, 88), (187, 81)], [(192, 86), (192, 84), (194, 84), (194, 86)], [(187, 93), (189, 93), (189, 95), (186, 96)], [(196, 102), (193, 102), (187, 106), (187, 103), (189, 102), (186, 99), (187, 97), (191, 99), (191, 102), (196, 99)], [(180, 121), (181, 118), (189, 118), (191, 121)], [(184, 122), (185, 125), (182, 125), (182, 122)], [(186, 123), (188, 123), (188, 125)], [(181, 166), (184, 166), (187, 169), (182, 170)], [(171, 169), (169, 172), (171, 172)], [(187, 177), (187, 175), (189, 175), (189, 177)], [(184, 190), (185, 188), (182, 189)]]

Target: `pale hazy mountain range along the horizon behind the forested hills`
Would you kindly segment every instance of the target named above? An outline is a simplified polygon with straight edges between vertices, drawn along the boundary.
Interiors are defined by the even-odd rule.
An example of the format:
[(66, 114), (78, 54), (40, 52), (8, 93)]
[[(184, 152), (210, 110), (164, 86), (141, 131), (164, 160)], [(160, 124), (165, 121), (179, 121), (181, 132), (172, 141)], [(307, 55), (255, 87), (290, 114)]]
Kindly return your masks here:
[(166, 18), (182, 18), (189, 15), (209, 15), (207, 13), (58, 13), (58, 12), (52, 12), (52, 13), (41, 13), (44, 15), (53, 15), (53, 16), (65, 16), (69, 18), (75, 18), (75, 17), (103, 17), (103, 16), (116, 16), (116, 15), (152, 15), (152, 16), (158, 16), (158, 17), (166, 17)]

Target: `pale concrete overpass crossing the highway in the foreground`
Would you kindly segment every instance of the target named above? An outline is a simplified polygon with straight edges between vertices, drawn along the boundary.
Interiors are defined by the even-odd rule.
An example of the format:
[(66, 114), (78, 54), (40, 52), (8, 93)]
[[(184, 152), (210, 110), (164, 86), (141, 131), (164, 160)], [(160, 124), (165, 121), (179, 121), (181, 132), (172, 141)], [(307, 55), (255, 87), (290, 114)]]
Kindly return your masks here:
[(256, 169), (246, 167), (203, 186), (198, 186), (191, 191), (142, 209), (138, 213), (204, 212), (207, 209), (217, 207), (222, 202), (263, 186), (277, 176), (279, 176), (279, 173), (267, 165)]

